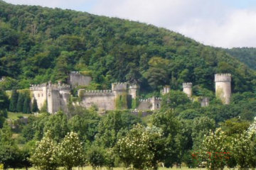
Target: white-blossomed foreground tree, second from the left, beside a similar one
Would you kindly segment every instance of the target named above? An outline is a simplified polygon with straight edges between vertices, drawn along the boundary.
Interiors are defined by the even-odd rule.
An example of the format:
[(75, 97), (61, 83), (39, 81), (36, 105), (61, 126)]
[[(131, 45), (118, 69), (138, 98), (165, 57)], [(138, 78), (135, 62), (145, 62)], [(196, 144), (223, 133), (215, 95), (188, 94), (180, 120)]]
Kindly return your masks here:
[(83, 166), (85, 156), (82, 142), (75, 132), (68, 132), (62, 142), (58, 145), (58, 161), (66, 170), (72, 170), (73, 166)]

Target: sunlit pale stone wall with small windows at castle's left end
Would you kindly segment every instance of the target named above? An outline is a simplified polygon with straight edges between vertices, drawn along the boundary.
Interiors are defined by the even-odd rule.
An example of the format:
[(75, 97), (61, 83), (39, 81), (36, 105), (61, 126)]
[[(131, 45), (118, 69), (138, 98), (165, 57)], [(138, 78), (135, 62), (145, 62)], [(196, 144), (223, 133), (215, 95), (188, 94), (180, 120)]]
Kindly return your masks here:
[(30, 91), (32, 93), (31, 102), (33, 102), (33, 99), (36, 98), (38, 109), (41, 110), (41, 108), (43, 107), (43, 104), (46, 102), (46, 99), (47, 99), (47, 85), (46, 84), (31, 85)]

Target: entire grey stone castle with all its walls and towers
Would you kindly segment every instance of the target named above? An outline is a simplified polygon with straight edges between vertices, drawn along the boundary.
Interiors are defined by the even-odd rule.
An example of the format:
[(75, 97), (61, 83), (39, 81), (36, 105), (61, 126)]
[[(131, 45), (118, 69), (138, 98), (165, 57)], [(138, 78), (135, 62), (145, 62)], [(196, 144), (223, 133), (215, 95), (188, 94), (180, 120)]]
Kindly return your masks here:
[[(33, 98), (36, 99), (39, 110), (47, 105), (49, 113), (55, 113), (60, 109), (68, 111), (68, 101), (70, 99), (71, 89), (77, 86), (87, 86), (92, 78), (80, 72), (71, 72), (68, 84), (38, 84), (31, 85), (30, 90)], [(167, 94), (171, 90), (170, 86), (164, 86), (161, 94)], [(139, 91), (137, 84), (113, 83), (109, 90), (86, 91), (78, 89), (80, 106), (90, 108), (97, 106), (99, 111), (111, 111), (117, 108), (117, 100), (136, 100)], [(183, 83), (183, 92), (188, 98), (192, 98), (192, 83)], [(230, 103), (231, 96), (231, 74), (215, 74), (215, 94), (225, 104)], [(33, 100), (31, 100), (33, 101)], [(127, 102), (127, 101), (126, 101)], [(201, 98), (201, 106), (209, 105), (209, 98)], [(161, 108), (161, 98), (148, 98), (138, 101), (137, 111), (156, 111)]]

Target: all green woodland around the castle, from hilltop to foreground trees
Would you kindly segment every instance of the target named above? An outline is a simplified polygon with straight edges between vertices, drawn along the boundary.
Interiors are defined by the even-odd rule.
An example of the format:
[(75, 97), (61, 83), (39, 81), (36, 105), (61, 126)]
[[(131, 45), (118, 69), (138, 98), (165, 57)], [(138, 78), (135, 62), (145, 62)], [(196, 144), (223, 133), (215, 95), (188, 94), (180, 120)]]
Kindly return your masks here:
[[(138, 83), (140, 97), (162, 97), (161, 110), (146, 117), (130, 110), (100, 115), (97, 107), (69, 105), (68, 113), (50, 115), (28, 104), (29, 84), (65, 82), (70, 71), (92, 75), (88, 89)], [(215, 73), (232, 74), (230, 105), (215, 98)], [(256, 124), (254, 68), (170, 30), (0, 0), (0, 75), (0, 169), (256, 166), (256, 137), (248, 130)], [(193, 82), (193, 101), (181, 91), (184, 81)], [(166, 84), (171, 92), (159, 94)], [(200, 96), (208, 96), (210, 106), (201, 107)], [(11, 119), (20, 112), (39, 113), (27, 122)]]

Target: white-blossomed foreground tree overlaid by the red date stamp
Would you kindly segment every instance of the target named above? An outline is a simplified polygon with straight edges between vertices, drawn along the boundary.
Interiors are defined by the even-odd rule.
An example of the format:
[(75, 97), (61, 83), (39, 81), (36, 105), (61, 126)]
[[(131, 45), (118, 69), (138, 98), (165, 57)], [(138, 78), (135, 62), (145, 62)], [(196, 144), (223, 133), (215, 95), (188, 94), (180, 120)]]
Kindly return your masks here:
[(210, 170), (224, 169), (230, 158), (230, 148), (227, 137), (220, 128), (215, 132), (210, 130), (209, 135), (203, 140), (198, 157), (201, 162), (206, 162), (206, 167)]

